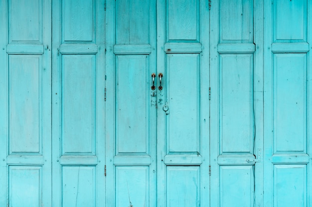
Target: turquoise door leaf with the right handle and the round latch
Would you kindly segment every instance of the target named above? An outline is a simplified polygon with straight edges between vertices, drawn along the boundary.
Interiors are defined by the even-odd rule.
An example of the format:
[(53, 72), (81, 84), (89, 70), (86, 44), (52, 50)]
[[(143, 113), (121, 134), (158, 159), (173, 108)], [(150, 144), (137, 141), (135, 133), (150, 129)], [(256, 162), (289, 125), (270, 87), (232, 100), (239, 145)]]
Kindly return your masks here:
[(209, 5), (157, 9), (157, 205), (209, 206)]

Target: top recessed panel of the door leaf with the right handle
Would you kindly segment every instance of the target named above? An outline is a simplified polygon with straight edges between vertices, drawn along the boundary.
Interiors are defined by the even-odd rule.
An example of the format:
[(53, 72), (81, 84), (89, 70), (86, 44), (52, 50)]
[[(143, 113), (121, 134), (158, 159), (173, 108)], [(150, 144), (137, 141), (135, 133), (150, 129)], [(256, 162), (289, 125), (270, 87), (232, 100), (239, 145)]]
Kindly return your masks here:
[(167, 0), (167, 39), (199, 40), (198, 0)]

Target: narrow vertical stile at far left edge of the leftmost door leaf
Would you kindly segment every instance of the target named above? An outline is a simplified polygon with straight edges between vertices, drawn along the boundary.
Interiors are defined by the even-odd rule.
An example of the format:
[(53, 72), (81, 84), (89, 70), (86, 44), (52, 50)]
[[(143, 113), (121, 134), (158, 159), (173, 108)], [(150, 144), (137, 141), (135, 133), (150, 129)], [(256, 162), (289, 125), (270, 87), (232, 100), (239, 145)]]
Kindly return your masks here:
[(0, 206), (8, 205), (6, 156), (8, 153), (7, 1), (0, 0)]

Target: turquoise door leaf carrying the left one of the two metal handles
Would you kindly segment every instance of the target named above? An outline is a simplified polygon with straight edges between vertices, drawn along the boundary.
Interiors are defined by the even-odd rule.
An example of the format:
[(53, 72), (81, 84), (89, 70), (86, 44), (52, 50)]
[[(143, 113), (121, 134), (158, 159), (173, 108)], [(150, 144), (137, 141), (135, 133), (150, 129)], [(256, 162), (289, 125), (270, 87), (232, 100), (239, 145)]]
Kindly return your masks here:
[(156, 1), (109, 0), (106, 8), (106, 206), (154, 207)]

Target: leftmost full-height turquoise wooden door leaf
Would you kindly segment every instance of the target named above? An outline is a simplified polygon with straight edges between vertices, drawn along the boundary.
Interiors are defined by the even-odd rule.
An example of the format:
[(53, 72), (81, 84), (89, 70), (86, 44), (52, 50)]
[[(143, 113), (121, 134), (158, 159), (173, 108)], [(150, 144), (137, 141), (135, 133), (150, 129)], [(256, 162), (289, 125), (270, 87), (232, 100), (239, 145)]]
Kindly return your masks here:
[(0, 206), (51, 206), (51, 2), (0, 8)]

